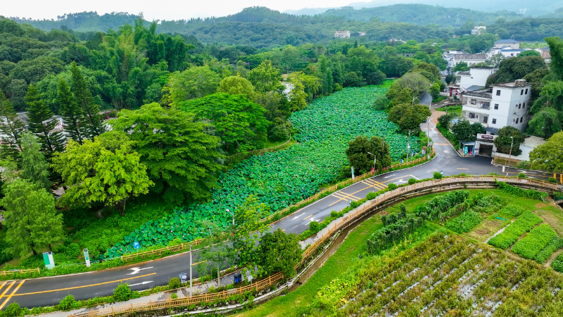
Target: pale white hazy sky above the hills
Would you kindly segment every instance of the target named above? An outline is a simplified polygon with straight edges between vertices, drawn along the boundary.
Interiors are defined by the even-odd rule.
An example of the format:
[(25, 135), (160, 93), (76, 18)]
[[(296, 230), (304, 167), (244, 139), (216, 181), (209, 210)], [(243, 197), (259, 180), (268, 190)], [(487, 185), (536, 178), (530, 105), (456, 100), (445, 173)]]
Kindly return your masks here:
[(352, 1), (336, 0), (4, 0), (0, 15), (34, 19), (56, 19), (63, 13), (96, 11), (144, 13), (146, 20), (179, 20), (207, 16), (223, 16), (248, 6), (267, 6), (278, 11), (300, 8), (346, 6)]

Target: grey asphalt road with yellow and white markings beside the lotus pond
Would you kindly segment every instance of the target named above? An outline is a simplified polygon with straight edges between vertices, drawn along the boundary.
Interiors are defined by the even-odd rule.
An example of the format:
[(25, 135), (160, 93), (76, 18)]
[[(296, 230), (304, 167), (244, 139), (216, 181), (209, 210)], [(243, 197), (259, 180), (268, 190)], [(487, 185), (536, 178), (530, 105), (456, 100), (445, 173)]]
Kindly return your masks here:
[[(426, 123), (422, 124), (422, 130), (426, 130)], [(462, 158), (458, 156), (433, 125), (429, 133), (436, 148), (434, 160), (350, 185), (279, 220), (272, 225), (272, 230), (280, 228), (288, 233), (301, 233), (309, 228), (311, 220), (322, 221), (330, 215), (331, 211), (340, 211), (348, 206), (349, 200), (356, 201), (365, 198), (367, 193), (377, 192), (391, 183), (401, 185), (408, 182), (410, 178), (420, 180), (431, 178), (434, 172), (440, 170), (444, 175), (502, 173), (502, 167), (493, 166), (490, 157)], [(537, 177), (537, 175), (529, 176)], [(196, 259), (197, 255), (194, 252), (194, 262)], [(189, 252), (103, 271), (18, 280), (13, 283), (8, 281), (5, 284), (0, 282), (0, 309), (13, 302), (27, 308), (56, 305), (68, 294), (74, 295), (77, 300), (108, 296), (113, 294), (113, 290), (120, 282), (132, 285), (132, 290), (146, 290), (167, 284), (170, 278), (177, 277), (179, 273), (189, 273)], [(194, 270), (194, 278), (197, 276), (198, 274)], [(223, 280), (222, 284), (231, 282), (232, 280)]]

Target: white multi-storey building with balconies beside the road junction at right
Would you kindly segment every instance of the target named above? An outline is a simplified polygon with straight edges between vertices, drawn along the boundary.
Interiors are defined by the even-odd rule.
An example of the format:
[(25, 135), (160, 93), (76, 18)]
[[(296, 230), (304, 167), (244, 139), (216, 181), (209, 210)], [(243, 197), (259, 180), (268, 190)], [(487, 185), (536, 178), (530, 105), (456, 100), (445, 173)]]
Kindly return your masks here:
[(524, 132), (531, 107), (531, 87), (526, 80), (516, 80), (488, 89), (464, 92), (462, 118), (483, 124), (488, 134), (496, 134), (507, 125)]

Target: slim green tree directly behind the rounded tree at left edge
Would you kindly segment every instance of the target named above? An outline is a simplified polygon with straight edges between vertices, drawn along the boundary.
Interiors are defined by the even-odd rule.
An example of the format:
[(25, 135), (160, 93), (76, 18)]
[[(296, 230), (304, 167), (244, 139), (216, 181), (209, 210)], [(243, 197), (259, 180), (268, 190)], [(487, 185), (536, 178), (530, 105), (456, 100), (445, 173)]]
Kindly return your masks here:
[(32, 182), (37, 188), (44, 188), (51, 192), (51, 181), (49, 180), (49, 163), (41, 152), (41, 144), (30, 133), (24, 133), (21, 137), (22, 150), (20, 156), (20, 176)]

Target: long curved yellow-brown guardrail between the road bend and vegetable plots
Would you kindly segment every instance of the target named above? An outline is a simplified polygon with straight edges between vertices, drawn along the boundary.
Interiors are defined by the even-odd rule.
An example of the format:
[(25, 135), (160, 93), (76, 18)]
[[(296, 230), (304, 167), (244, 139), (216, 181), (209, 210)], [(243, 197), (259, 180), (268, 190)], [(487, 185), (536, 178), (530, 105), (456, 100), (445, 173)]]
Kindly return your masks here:
[(374, 208), (375, 206), (378, 206), (379, 204), (383, 203), (384, 201), (387, 201), (388, 199), (391, 199), (391, 198), (394, 198), (394, 197), (399, 197), (399, 196), (402, 196), (404, 194), (408, 194), (410, 192), (415, 192), (419, 189), (431, 188), (431, 187), (434, 187), (436, 185), (447, 185), (447, 184), (453, 184), (453, 183), (457, 183), (457, 182), (495, 182), (495, 180), (498, 180), (500, 182), (512, 182), (512, 183), (517, 183), (517, 184), (520, 184), (520, 185), (536, 185), (536, 186), (541, 186), (541, 187), (545, 187), (545, 188), (552, 189), (552, 190), (557, 190), (557, 184), (553, 184), (551, 182), (546, 182), (545, 180), (532, 180), (532, 179), (529, 179), (529, 178), (517, 178), (517, 177), (496, 176), (496, 175), (491, 175), (491, 176), (489, 176), (489, 175), (485, 175), (485, 176), (462, 176), (462, 177), (453, 177), (453, 178), (442, 178), (440, 180), (427, 180), (427, 181), (424, 181), (424, 182), (419, 182), (417, 184), (408, 185), (408, 186), (405, 186), (405, 187), (399, 187), (399, 188), (393, 189), (389, 192), (384, 192), (383, 194), (380, 194), (375, 199), (372, 199), (371, 201), (369, 201), (369, 204), (365, 204), (361, 208), (355, 209), (354, 211), (351, 211), (350, 213), (348, 213), (347, 216), (344, 216), (343, 218), (341, 218), (341, 220), (339, 222), (335, 223), (331, 228), (329, 228), (329, 230), (327, 232), (324, 233), (324, 235), (322, 235), (320, 237), (320, 239), (318, 239), (313, 244), (311, 244), (310, 247), (308, 247), (303, 252), (302, 261), (307, 259), (307, 257), (312, 253), (312, 251), (315, 251), (315, 249), (317, 249), (317, 247), (319, 247), (320, 244), (322, 244), (329, 237), (331, 237), (331, 235), (333, 235), (334, 232), (341, 230), (343, 228), (346, 228), (353, 220), (356, 220), (358, 217), (363, 216), (365, 213), (370, 211), (372, 208)]

